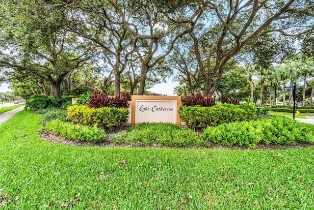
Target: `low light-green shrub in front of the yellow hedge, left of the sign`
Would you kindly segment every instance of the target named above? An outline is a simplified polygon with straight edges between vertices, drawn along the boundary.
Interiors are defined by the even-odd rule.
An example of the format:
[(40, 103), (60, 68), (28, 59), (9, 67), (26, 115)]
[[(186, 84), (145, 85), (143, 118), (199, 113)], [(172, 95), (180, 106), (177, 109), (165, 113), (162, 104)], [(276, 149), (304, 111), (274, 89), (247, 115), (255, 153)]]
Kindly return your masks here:
[(106, 137), (105, 131), (96, 126), (90, 127), (86, 125), (77, 125), (60, 120), (47, 122), (47, 129), (76, 141), (97, 143), (103, 141)]

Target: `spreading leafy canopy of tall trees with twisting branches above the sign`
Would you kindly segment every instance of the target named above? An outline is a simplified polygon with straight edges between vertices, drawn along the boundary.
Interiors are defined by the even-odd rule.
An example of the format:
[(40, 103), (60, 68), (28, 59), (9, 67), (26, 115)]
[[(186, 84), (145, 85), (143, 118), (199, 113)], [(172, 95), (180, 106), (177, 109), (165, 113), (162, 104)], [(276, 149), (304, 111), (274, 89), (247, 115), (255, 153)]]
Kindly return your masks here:
[(114, 81), (115, 93), (123, 83), (144, 94), (179, 72), (192, 94), (214, 95), (229, 91), (223, 80), (249, 51), (270, 69), (280, 36), (305, 36), (313, 56), (313, 17), (310, 0), (1, 0), (0, 71), (42, 92), (49, 84), (55, 97), (87, 64), (106, 69), (103, 85)]

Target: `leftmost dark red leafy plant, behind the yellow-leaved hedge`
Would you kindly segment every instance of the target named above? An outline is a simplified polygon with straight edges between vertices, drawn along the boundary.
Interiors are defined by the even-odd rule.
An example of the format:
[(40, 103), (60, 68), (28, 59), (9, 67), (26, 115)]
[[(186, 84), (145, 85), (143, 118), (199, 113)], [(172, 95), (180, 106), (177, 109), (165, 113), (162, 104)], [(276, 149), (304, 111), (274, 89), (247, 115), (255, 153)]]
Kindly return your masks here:
[(92, 97), (88, 100), (87, 106), (91, 108), (113, 107), (113, 99), (108, 97), (106, 92), (94, 90)]

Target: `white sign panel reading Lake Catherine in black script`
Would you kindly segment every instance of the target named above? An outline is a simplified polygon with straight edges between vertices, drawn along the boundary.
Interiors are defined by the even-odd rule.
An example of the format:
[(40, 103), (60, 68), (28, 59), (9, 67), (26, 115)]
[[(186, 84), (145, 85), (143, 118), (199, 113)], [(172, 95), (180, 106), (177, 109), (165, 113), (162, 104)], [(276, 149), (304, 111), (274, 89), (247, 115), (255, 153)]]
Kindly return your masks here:
[(176, 100), (135, 100), (135, 123), (177, 122)]

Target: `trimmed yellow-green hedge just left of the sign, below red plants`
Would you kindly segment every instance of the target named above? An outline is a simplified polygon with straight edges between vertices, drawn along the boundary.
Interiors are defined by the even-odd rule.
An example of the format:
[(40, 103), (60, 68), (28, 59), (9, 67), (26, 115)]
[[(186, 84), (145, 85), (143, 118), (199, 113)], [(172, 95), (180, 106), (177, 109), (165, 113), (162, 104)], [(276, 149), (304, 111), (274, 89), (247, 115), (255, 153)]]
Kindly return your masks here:
[(84, 105), (74, 105), (68, 107), (67, 119), (75, 124), (97, 126), (105, 130), (114, 130), (126, 123), (129, 118), (127, 108), (89, 108)]

